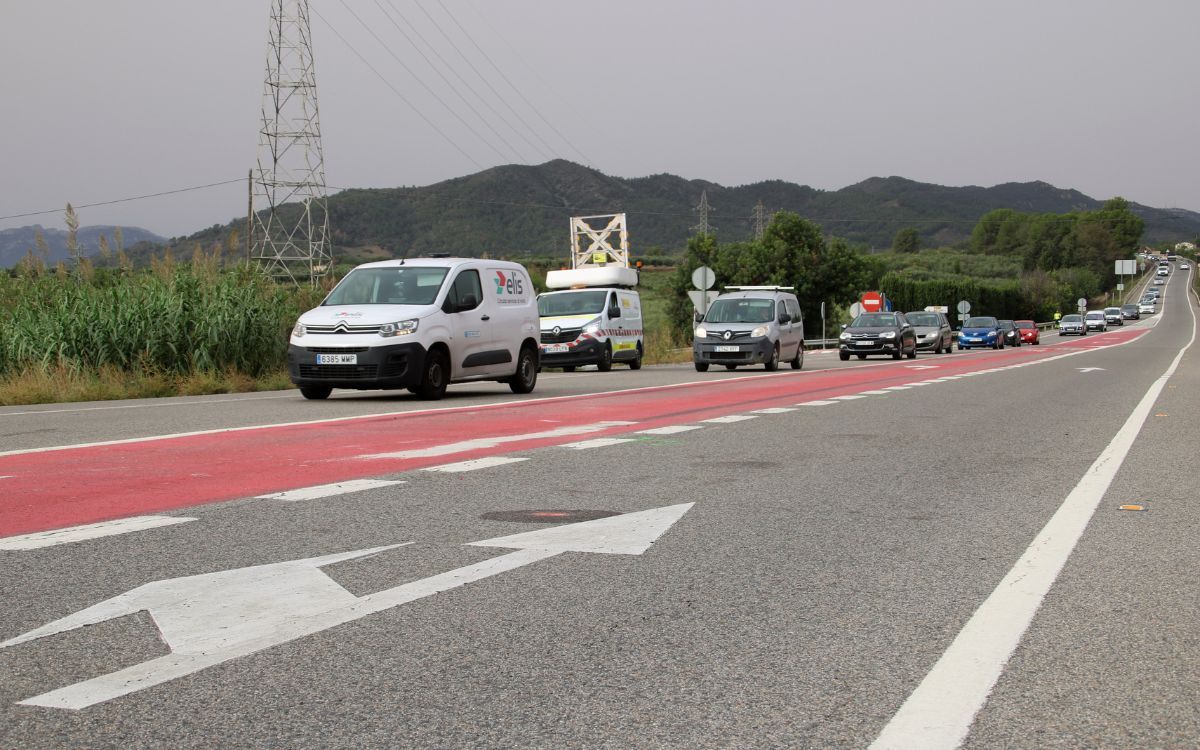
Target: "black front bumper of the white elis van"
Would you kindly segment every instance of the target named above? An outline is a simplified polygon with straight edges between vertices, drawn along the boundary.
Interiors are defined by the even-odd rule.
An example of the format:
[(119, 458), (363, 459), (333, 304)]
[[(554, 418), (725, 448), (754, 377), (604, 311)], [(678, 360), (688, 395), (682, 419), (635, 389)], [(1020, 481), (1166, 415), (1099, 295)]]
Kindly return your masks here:
[[(320, 365), (319, 354), (353, 354), (354, 364)], [(288, 374), (296, 385), (394, 389), (420, 385), (425, 347), (397, 343), (384, 347), (298, 347), (288, 344)]]

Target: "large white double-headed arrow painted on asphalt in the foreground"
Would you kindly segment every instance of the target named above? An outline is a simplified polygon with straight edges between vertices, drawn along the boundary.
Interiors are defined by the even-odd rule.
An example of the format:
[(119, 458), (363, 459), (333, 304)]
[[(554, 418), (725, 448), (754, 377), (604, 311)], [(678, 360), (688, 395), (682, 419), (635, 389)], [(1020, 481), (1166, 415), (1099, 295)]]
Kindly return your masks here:
[(404, 545), (155, 581), (10, 638), (0, 648), (149, 612), (169, 654), (20, 701), (78, 710), (564, 552), (642, 554), (692, 505), (470, 542), (517, 551), (366, 596), (355, 596), (320, 568)]

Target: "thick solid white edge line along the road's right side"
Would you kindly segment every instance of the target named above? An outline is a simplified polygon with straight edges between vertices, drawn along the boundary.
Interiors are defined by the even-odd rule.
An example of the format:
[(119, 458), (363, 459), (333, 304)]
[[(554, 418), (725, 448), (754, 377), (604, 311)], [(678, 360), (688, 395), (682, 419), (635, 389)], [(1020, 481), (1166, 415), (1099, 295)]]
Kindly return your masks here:
[(883, 727), (871, 743), (871, 750), (954, 750), (966, 739), (976, 714), (988, 701), (1042, 600), (1121, 469), (1154, 401), (1195, 342), (1196, 316), (1190, 306), (1188, 310), (1192, 312), (1192, 338), (1187, 346), (1150, 386), (1021, 559), (976, 610), (917, 690)]

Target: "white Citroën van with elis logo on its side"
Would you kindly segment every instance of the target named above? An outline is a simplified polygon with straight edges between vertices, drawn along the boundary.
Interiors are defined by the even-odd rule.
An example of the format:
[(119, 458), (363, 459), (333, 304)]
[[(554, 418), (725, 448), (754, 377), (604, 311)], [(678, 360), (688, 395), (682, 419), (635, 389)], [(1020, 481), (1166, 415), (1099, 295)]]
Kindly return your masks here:
[(476, 258), (366, 263), (300, 316), (288, 371), (305, 398), (335, 388), (407, 388), (440, 398), (450, 383), (538, 382), (538, 305), (524, 266)]

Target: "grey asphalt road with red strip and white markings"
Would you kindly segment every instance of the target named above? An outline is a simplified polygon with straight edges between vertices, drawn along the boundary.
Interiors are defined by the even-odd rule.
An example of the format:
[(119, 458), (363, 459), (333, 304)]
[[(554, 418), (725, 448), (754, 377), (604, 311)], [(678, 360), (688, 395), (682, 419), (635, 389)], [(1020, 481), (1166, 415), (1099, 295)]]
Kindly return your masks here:
[[(0, 648), (0, 748), (1193, 748), (1200, 510), (1188, 449), (1200, 439), (1189, 395), (1200, 354), (1188, 348), (1162, 379), (1195, 330), (1184, 274), (1168, 288), (1158, 316), (1036, 348), (865, 365), (810, 354), (804, 371), (769, 376), (547, 371), (533, 397), (458, 386), (439, 413), (414, 414), (430, 404), (407, 394), (306, 402), (294, 391), (0, 409), (0, 641), (170, 582), (95, 624)], [(1142, 407), (1144, 422), (1130, 422)], [(608, 426), (528, 437), (586, 422)], [(1128, 451), (1114, 449), (1126, 433)], [(233, 434), (236, 448), (221, 452)], [(386, 440), (404, 455), (354, 472), (396, 484), (174, 503), (192, 491), (190, 461), (229, 486), (286, 482), (294, 472), (229, 455), (258, 440), (274, 456), (284, 437), (288, 452)], [(120, 454), (41, 450), (138, 438), (160, 439)], [(455, 440), (470, 445), (438, 454)], [(151, 466), (162, 461), (152, 444), (175, 446), (170, 467)], [(30, 450), (41, 452), (13, 452)], [(44, 503), (68, 508), (133, 494), (173, 468), (180, 476), (157, 497), (138, 496), (139, 512), (193, 520), (5, 548), (17, 538), (5, 514), (31, 492), (35, 457), (54, 462), (38, 464), (59, 488)], [(446, 467), (479, 468), (430, 470)], [(1111, 485), (1097, 480), (1112, 469)], [(1056, 524), (1086, 491), (1094, 512), (1076, 544)], [(661, 508), (678, 516), (662, 528), (630, 515)], [(496, 515), (529, 510), (540, 515)], [(613, 553), (625, 532), (607, 527), (497, 539), (623, 520), (610, 514), (653, 539), (640, 553)], [(1034, 544), (1044, 528), (1054, 544)], [(616, 546), (600, 550), (601, 539)], [(978, 713), (966, 701), (965, 738), (935, 730), (935, 745), (896, 730), (906, 701), (937, 679), (950, 694), (935, 700), (932, 724), (953, 724), (962, 709), (950, 698), (971, 692), (986, 659), (955, 671), (947, 654), (970, 644), (972, 616), (1008, 590), (1014, 566), (1018, 586), (1042, 575), (1025, 562), (1031, 546), (1063, 539), (1069, 557), (1046, 574), (1027, 629), (1013, 625), (1015, 649)], [(469, 545), (485, 540), (497, 544)], [(254, 568), (240, 589), (188, 578), (390, 545), (406, 546), (319, 574)], [(516, 562), (488, 568), (502, 557)], [(452, 583), (433, 578), (451, 570)], [(364, 613), (372, 594), (397, 589), (402, 602)], [(278, 635), (318, 623), (340, 596), (354, 599), (350, 619)], [(1021, 606), (1000, 601), (1002, 614)], [(1019, 618), (984, 619), (980, 650)], [(277, 642), (242, 648), (244, 631)], [(22, 703), (172, 650), (230, 648), (251, 650), (161, 684), (125, 680), (125, 692), (83, 707)]]

